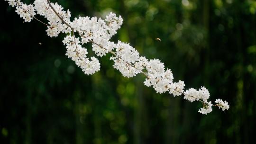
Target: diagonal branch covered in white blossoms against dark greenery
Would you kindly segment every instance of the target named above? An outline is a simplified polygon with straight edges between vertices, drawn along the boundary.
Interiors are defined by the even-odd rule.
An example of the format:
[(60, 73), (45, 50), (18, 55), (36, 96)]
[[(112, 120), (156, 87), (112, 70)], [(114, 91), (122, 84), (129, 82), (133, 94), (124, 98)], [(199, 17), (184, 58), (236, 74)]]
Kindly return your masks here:
[[(82, 46), (91, 42), (92, 50), (97, 56), (102, 57), (111, 53), (110, 60), (114, 61), (113, 67), (119, 70), (123, 76), (129, 78), (138, 73), (145, 74), (144, 84), (148, 87), (152, 86), (157, 93), (168, 91), (174, 97), (183, 94), (183, 98), (191, 102), (201, 101), (203, 104), (203, 108), (199, 110), (201, 114), (210, 113), (212, 106), (218, 106), (223, 111), (229, 109), (228, 102), (223, 102), (221, 99), (215, 101), (216, 105), (208, 102), (210, 93), (205, 87), (201, 87), (199, 90), (190, 88), (184, 91), (184, 81), (174, 82), (172, 71), (165, 70), (165, 65), (160, 60), (148, 60), (146, 57), (140, 56), (134, 47), (121, 41), (111, 42), (110, 38), (117, 33), (123, 23), (121, 16), (110, 12), (105, 19), (79, 16), (71, 21), (69, 10), (65, 11), (62, 6), (50, 3), (49, 0), (35, 0), (30, 5), (23, 4), (20, 0), (6, 1), (12, 7), (16, 6), (16, 12), (25, 22), (30, 22), (35, 18), (36, 12), (38, 15), (44, 16), (48, 20), (48, 24), (44, 23), (47, 25), (48, 36), (56, 37), (60, 33), (66, 34), (67, 36), (63, 40), (67, 50), (66, 55), (81, 67), (85, 74), (93, 74), (100, 70), (99, 60), (95, 57), (87, 57), (87, 49)], [(76, 37), (75, 33), (79, 37)]]

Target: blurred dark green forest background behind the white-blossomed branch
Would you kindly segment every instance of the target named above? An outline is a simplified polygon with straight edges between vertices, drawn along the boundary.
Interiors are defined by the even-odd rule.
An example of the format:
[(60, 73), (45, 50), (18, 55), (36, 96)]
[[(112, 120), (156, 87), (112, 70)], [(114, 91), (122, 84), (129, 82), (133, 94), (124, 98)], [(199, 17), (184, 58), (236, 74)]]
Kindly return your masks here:
[(255, 141), (256, 0), (55, 1), (73, 18), (121, 15), (124, 24), (112, 41), (160, 59), (174, 81), (205, 86), (210, 100), (225, 99), (230, 108), (201, 115), (200, 103), (156, 94), (144, 86), (143, 75), (124, 78), (112, 68), (110, 54), (100, 59), (100, 72), (87, 76), (65, 56), (64, 34), (47, 37), (44, 25), (23, 23), (1, 0), (1, 144)]

